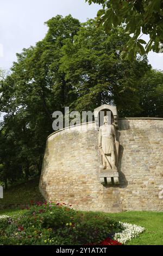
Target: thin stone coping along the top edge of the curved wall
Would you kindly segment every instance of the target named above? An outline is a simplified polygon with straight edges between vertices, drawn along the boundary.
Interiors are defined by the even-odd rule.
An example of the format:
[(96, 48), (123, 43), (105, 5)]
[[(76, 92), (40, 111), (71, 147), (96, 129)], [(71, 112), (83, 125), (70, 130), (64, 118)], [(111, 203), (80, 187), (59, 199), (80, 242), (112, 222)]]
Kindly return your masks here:
[[(123, 118), (118, 118), (118, 120), (163, 120), (163, 118), (159, 118), (159, 117), (123, 117)], [(82, 123), (82, 124), (77, 124), (77, 125), (72, 125), (72, 126), (67, 126), (63, 129), (60, 129), (58, 131), (55, 131), (53, 133), (51, 133), (47, 139), (49, 137), (51, 137), (52, 135), (54, 135), (55, 133), (58, 133), (58, 132), (61, 132), (61, 131), (64, 131), (64, 130), (68, 130), (68, 129), (71, 129), (73, 127), (76, 127), (76, 126), (80, 126), (80, 125), (86, 125), (86, 124), (92, 124), (92, 123), (95, 123), (95, 121), (92, 121), (92, 122), (87, 122), (87, 123)]]

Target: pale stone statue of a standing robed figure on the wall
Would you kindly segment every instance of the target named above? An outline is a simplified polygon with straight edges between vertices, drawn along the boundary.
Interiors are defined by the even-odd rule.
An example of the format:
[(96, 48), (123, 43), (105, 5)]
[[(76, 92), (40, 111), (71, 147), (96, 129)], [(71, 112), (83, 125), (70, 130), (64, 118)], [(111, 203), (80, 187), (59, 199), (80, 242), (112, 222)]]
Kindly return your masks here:
[(99, 127), (98, 147), (101, 153), (102, 169), (117, 171), (118, 141), (115, 126), (109, 124), (107, 115), (104, 117), (104, 125)]

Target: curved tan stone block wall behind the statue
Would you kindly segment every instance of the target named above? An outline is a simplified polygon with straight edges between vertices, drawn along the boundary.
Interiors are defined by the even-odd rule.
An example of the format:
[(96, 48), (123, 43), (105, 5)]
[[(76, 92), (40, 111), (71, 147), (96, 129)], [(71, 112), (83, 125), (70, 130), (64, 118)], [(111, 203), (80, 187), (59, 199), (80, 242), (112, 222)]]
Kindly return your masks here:
[[(98, 131), (71, 127), (47, 139), (40, 191), (93, 211), (163, 211), (163, 119), (118, 121), (120, 185), (99, 181)], [(85, 130), (85, 131), (83, 131)]]

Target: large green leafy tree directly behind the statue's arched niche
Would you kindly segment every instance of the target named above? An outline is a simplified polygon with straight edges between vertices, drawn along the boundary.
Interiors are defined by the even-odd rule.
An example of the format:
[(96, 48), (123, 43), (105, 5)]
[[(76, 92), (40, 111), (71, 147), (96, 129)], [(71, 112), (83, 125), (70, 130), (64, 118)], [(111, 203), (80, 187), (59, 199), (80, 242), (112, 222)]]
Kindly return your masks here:
[(120, 54), (128, 35), (123, 28), (113, 29), (106, 35), (95, 20), (83, 24), (78, 35), (63, 47), (60, 70), (65, 72), (66, 83), (73, 84), (77, 100), (72, 109), (91, 110), (104, 103), (114, 104), (119, 114), (136, 116), (140, 107), (139, 80), (151, 69), (147, 57), (134, 62), (122, 61)]

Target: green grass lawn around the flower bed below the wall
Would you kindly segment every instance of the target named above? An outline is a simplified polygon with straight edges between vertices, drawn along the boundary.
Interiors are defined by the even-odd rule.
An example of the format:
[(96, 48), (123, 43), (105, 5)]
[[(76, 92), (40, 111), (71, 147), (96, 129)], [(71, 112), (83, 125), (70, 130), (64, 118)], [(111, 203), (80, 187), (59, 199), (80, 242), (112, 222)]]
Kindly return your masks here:
[[(4, 192), (4, 198), (0, 199), (0, 205), (8, 204), (29, 204), (30, 200), (43, 200), (39, 188), (39, 179), (29, 181), (27, 184), (17, 185), (9, 188)], [(0, 210), (0, 215), (15, 215), (23, 214), (24, 211), (20, 209), (5, 209)], [(120, 212), (117, 214), (103, 213), (110, 216), (117, 221), (127, 222), (131, 224), (145, 227), (145, 231), (139, 237), (128, 242), (128, 245), (163, 245), (163, 212), (147, 212), (147, 211), (133, 211)]]

